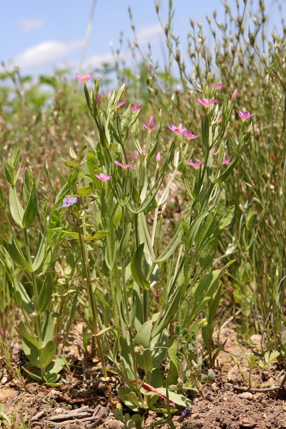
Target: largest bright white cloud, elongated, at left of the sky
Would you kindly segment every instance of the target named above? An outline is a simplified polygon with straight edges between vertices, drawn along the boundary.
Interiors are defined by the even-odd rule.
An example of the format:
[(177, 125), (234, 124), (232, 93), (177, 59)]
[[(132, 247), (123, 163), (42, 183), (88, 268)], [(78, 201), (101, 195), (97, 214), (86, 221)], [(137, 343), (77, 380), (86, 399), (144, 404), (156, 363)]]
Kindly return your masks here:
[(49, 40), (39, 43), (26, 49), (22, 54), (15, 58), (15, 63), (22, 69), (32, 69), (52, 63), (59, 57), (64, 57), (71, 51), (82, 47), (83, 40), (74, 40), (73, 42), (58, 42), (58, 40)]

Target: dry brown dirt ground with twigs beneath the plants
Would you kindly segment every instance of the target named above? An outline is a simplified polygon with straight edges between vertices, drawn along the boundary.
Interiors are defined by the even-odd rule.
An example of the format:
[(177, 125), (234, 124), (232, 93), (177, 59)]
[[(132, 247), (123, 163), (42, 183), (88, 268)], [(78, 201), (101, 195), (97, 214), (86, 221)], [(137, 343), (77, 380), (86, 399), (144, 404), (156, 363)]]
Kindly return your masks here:
[[(85, 372), (86, 382), (83, 378), (81, 360), (81, 339), (76, 331), (80, 332), (81, 326), (71, 333), (69, 341), (65, 345), (67, 360), (70, 362), (73, 375), (62, 373), (61, 389), (44, 389), (37, 383), (27, 384), (26, 390), (17, 387), (17, 383), (9, 375), (3, 360), (0, 360), (0, 404), (5, 413), (10, 416), (15, 413), (15, 426), (21, 426), (19, 411), (27, 422), (31, 417), (30, 427), (33, 429), (60, 428), (83, 429), (96, 428), (112, 429), (121, 426), (116, 420), (104, 395), (105, 385), (98, 373), (96, 359), (88, 360)], [(220, 377), (216, 371), (214, 382), (204, 388), (204, 397), (195, 398), (190, 405), (189, 414), (186, 417), (178, 411), (173, 416), (173, 424), (182, 429), (243, 429), (243, 428), (286, 428), (286, 390), (261, 392), (243, 392), (234, 386), (243, 387), (243, 382), (237, 367), (228, 358), (228, 353), (242, 355), (251, 350), (242, 348), (236, 343), (236, 334), (233, 326), (224, 329), (220, 341), (228, 338), (225, 350), (220, 353), (216, 367), (222, 366)], [(258, 338), (253, 338), (258, 340)], [(15, 365), (23, 365), (24, 355), (21, 347), (15, 344), (13, 349)], [(239, 360), (239, 358), (237, 358)], [(241, 360), (244, 365), (245, 360)], [(253, 371), (253, 381), (258, 375)], [(283, 368), (273, 365), (265, 370), (262, 377), (264, 386), (279, 386), (284, 376)], [(248, 372), (245, 373), (248, 379)], [(113, 398), (120, 402), (116, 395), (116, 389), (121, 384), (118, 377), (110, 377), (113, 389)], [(123, 404), (123, 414), (131, 413)], [(149, 428), (161, 418), (159, 414), (146, 412), (142, 414), (144, 428)], [(152, 424), (152, 426), (150, 426)], [(167, 429), (167, 425), (158, 426)]]

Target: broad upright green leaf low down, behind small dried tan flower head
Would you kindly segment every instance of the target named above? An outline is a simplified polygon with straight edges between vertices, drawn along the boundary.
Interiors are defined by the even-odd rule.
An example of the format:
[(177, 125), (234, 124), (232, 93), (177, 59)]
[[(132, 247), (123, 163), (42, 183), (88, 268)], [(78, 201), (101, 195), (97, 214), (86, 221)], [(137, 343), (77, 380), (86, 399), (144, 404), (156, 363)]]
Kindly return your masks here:
[[(147, 320), (147, 322), (143, 323), (143, 325), (138, 330), (137, 334), (134, 338), (134, 346), (143, 346), (145, 349), (149, 349), (150, 347), (150, 337), (152, 331), (152, 320)], [(150, 350), (143, 351), (143, 355), (140, 353), (135, 354), (136, 361), (140, 368), (145, 371), (152, 371), (152, 356)]]

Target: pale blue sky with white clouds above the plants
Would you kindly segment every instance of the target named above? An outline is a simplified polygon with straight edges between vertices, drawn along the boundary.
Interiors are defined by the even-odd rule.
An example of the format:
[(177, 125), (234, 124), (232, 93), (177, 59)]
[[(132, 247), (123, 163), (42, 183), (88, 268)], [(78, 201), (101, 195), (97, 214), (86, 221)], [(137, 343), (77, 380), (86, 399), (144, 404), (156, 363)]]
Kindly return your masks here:
[[(285, 1), (282, 12), (286, 12)], [(234, 0), (228, 3), (233, 7)], [(243, 0), (239, 0), (243, 5)], [(277, 1), (265, 0), (266, 12), (271, 11), (269, 32), (277, 21)], [(16, 0), (1, 2), (0, 60), (12, 66), (18, 63), (24, 74), (37, 75), (52, 73), (55, 67), (70, 66), (72, 72), (78, 71), (82, 47), (85, 40), (92, 0)], [(159, 0), (160, 15), (167, 20), (168, 0)], [(258, 0), (250, 6), (255, 12)], [(128, 6), (131, 6), (137, 36), (143, 51), (151, 42), (154, 57), (163, 63), (159, 40), (164, 39), (153, 0), (97, 0), (90, 39), (85, 55), (82, 73), (88, 73), (88, 66), (100, 67), (103, 62), (112, 63), (110, 42), (118, 47), (119, 33), (124, 32), (122, 55), (130, 61), (128, 39), (133, 40)], [(217, 10), (217, 19), (223, 20), (223, 6), (219, 0), (173, 0), (176, 10), (174, 33), (182, 40), (181, 51), (186, 51), (186, 35), (190, 30), (189, 18), (201, 21), (204, 34), (211, 40), (205, 15), (212, 16)], [(242, 7), (242, 6), (241, 6)], [(246, 20), (247, 20), (246, 16)], [(246, 22), (247, 24), (247, 22)], [(280, 23), (277, 22), (277, 31)]]

